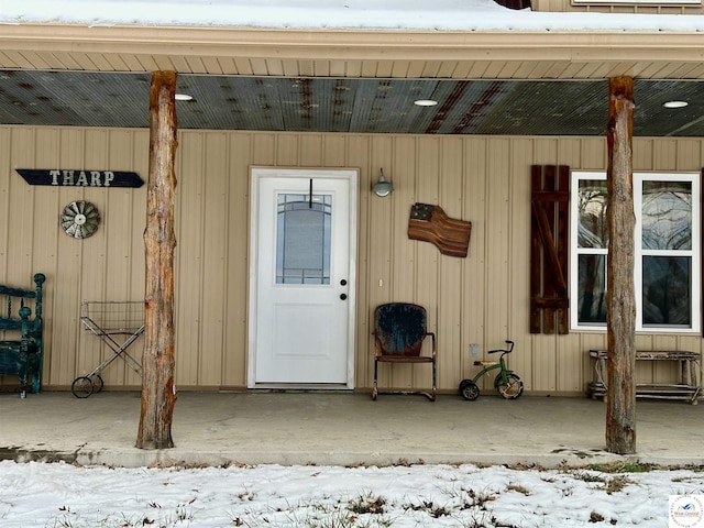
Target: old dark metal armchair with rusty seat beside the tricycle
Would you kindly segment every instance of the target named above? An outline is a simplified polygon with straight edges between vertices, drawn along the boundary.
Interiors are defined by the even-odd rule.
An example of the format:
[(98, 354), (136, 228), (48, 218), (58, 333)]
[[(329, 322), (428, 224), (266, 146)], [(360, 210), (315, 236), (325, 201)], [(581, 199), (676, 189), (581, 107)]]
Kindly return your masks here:
[[(428, 391), (388, 391), (395, 394), (422, 394), (435, 402), (437, 387), (436, 334), (428, 332), (428, 316), (422, 306), (410, 302), (389, 302), (374, 310), (374, 388), (378, 395), (378, 363), (430, 363), (432, 388)], [(431, 355), (421, 355), (425, 339), (432, 340)]]

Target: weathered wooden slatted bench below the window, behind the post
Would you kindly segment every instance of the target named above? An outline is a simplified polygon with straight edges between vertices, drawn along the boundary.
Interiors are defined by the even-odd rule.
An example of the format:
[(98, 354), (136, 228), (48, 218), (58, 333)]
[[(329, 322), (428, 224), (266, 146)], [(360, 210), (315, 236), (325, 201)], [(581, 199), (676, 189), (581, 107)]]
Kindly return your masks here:
[[(606, 351), (590, 350), (594, 360), (594, 377), (588, 385), (592, 398), (606, 396)], [(636, 361), (676, 361), (680, 363), (679, 383), (636, 384), (637, 398), (684, 399), (696, 405), (702, 393), (700, 354), (686, 351), (636, 351)]]

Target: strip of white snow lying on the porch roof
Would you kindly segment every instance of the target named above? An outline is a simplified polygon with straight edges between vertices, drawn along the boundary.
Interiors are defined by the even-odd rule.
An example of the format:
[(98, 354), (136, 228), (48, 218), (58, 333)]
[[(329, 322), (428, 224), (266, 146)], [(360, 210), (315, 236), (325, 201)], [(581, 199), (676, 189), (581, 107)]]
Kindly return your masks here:
[(0, 24), (418, 31), (704, 31), (704, 15), (514, 11), (494, 0), (0, 0)]

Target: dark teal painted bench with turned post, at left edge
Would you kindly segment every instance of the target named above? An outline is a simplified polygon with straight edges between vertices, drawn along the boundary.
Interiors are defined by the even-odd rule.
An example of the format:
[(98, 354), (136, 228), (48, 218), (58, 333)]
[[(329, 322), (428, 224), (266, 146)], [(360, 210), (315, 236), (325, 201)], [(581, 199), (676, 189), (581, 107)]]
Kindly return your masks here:
[[(26, 397), (30, 377), (32, 393), (38, 393), (42, 383), (42, 288), (45, 280), (44, 274), (35, 274), (33, 290), (0, 285), (0, 376), (20, 378), (21, 398)], [(10, 337), (14, 339), (8, 339)]]

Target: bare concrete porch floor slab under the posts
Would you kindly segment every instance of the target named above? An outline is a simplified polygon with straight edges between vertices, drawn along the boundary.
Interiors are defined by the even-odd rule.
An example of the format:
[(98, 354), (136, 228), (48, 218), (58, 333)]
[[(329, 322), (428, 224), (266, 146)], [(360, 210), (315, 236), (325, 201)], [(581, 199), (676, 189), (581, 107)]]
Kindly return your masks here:
[(704, 464), (704, 405), (637, 404), (637, 449), (605, 451), (606, 406), (584, 398), (482, 394), (180, 392), (168, 450), (134, 448), (138, 392), (0, 393), (0, 459), (147, 466), (408, 463)]

